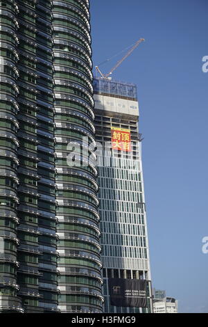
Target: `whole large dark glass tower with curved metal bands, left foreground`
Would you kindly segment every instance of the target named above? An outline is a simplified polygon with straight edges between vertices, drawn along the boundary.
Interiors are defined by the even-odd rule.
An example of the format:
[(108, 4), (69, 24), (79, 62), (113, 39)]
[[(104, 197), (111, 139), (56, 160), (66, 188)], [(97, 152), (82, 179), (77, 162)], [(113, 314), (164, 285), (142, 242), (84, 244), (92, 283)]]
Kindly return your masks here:
[(0, 311), (101, 312), (89, 1), (0, 8)]

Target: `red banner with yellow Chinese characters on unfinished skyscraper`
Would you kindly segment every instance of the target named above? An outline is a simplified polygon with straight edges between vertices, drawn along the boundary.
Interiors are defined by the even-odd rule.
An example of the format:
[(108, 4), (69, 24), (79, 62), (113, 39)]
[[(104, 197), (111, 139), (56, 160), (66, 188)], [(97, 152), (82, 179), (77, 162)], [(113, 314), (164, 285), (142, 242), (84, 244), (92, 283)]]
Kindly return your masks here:
[(111, 129), (112, 149), (131, 152), (131, 136), (129, 129), (114, 128)]

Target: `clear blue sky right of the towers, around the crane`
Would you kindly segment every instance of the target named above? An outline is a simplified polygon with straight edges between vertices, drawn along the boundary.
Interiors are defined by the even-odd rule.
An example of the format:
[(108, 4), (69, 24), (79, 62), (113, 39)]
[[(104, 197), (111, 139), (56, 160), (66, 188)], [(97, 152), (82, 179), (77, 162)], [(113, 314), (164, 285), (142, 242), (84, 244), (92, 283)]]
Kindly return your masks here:
[(94, 65), (146, 39), (113, 78), (137, 84), (153, 286), (180, 312), (208, 312), (207, 11), (207, 0), (91, 0)]

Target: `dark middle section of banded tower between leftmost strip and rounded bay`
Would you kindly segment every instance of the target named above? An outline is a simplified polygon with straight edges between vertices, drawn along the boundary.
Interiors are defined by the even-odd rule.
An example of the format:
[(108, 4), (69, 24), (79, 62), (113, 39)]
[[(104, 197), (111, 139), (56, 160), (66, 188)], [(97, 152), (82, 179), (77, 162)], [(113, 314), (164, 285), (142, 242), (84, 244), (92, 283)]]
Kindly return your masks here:
[(25, 312), (57, 310), (51, 1), (18, 0), (18, 236)]

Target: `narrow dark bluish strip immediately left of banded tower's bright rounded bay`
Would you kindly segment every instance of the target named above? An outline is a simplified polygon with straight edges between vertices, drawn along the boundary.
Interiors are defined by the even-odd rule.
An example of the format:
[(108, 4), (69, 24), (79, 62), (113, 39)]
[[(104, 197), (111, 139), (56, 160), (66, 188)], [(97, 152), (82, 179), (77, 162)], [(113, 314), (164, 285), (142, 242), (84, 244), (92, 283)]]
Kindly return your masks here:
[(39, 256), (39, 306), (44, 312), (56, 312), (58, 305), (55, 152), (53, 111), (53, 53), (51, 1), (36, 4), (37, 72), (37, 190)]

